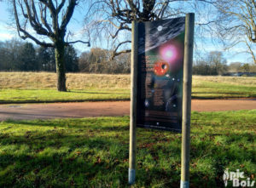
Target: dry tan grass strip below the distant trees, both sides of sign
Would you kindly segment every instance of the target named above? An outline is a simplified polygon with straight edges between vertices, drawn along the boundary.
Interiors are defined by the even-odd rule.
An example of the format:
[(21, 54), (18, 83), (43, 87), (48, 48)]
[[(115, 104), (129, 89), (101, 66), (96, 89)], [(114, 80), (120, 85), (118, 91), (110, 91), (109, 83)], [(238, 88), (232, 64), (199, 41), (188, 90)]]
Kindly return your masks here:
[[(130, 88), (130, 75), (67, 73), (67, 88)], [(193, 76), (193, 87), (201, 83), (227, 83), (255, 86), (256, 77)], [(0, 88), (56, 88), (56, 74), (52, 72), (0, 72)]]

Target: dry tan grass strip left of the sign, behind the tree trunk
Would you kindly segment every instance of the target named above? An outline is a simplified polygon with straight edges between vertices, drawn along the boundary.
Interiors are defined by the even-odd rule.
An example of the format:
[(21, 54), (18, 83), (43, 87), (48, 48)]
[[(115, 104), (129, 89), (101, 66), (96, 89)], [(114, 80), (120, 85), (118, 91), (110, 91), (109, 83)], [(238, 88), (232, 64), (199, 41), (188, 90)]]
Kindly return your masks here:
[[(52, 72), (0, 72), (0, 88), (55, 89)], [(68, 89), (130, 88), (130, 75), (67, 73)]]

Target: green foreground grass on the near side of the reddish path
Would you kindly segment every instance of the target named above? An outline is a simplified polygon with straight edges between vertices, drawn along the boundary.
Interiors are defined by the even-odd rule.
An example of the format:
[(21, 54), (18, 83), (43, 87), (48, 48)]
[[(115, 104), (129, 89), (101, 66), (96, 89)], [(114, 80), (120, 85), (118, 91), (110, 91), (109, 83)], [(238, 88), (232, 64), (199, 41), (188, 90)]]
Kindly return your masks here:
[[(256, 110), (192, 112), (191, 187), (256, 176)], [(178, 187), (181, 134), (137, 128), (135, 187)], [(0, 187), (128, 187), (129, 117), (0, 122)], [(255, 178), (253, 178), (255, 180)]]

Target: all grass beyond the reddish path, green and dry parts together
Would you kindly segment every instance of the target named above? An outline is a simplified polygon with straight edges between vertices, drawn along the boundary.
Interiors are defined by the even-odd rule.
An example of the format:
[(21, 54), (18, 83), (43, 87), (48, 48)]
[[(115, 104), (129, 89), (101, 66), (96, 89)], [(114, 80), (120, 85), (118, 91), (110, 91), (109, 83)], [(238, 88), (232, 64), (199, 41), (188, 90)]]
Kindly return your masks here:
[[(55, 73), (0, 72), (0, 104), (130, 100), (130, 76), (67, 74), (68, 92), (57, 92)], [(256, 77), (193, 76), (196, 99), (256, 98)]]

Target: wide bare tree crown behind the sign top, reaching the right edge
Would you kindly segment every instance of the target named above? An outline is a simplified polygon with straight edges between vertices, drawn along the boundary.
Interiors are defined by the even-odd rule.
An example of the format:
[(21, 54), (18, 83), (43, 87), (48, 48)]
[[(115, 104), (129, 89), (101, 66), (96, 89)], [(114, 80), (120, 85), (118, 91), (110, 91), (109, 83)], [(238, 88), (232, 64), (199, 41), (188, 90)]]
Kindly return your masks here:
[(255, 62), (255, 9), (255, 0), (98, 0), (91, 4), (86, 22), (97, 12), (96, 20), (88, 25), (95, 29), (90, 34), (94, 33), (95, 39), (105, 33), (108, 43), (114, 43), (116, 56), (131, 51), (127, 44), (131, 43), (132, 20), (160, 20), (195, 12), (197, 41), (203, 43), (210, 34), (215, 45), (221, 39), (224, 50), (244, 43), (245, 52), (252, 54)]

